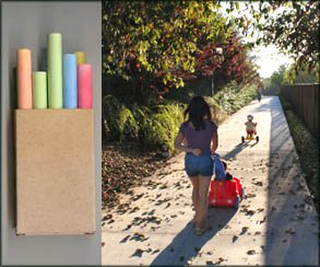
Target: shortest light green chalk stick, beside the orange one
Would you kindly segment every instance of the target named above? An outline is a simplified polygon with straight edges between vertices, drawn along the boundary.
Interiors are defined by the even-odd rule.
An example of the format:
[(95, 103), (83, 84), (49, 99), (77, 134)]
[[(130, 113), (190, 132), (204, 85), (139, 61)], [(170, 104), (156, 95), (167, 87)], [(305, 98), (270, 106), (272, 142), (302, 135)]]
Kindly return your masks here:
[(47, 108), (47, 72), (34, 71), (33, 80), (33, 108)]

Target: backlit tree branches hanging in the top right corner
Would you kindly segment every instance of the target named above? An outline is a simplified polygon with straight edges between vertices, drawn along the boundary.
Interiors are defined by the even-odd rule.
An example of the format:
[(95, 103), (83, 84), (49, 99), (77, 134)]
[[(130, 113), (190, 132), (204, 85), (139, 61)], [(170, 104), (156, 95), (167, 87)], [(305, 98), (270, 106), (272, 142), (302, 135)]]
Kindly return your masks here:
[(254, 44), (274, 44), (289, 54), (296, 71), (310, 71), (319, 61), (319, 1), (249, 1), (246, 9), (252, 18), (240, 16), (237, 24), (245, 35), (260, 33)]

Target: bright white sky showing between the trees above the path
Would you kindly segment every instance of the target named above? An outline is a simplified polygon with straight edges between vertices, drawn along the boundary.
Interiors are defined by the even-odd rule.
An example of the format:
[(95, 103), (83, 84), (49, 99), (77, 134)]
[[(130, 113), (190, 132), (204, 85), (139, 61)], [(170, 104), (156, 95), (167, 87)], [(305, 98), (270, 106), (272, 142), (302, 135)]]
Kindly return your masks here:
[[(235, 10), (232, 14), (234, 16), (246, 15), (248, 19), (251, 16), (249, 11), (245, 11), (245, 4), (242, 1), (238, 1), (240, 10)], [(225, 2), (222, 2), (222, 7), (227, 7)], [(257, 3), (258, 9), (258, 3)], [(223, 11), (226, 15), (226, 13)], [(246, 39), (246, 38), (245, 38)], [(250, 39), (251, 40), (251, 39)], [(251, 56), (254, 56), (254, 62), (258, 66), (258, 72), (261, 78), (270, 78), (274, 71), (277, 71), (282, 65), (293, 63), (287, 55), (280, 51), (274, 45), (257, 46), (253, 48)]]

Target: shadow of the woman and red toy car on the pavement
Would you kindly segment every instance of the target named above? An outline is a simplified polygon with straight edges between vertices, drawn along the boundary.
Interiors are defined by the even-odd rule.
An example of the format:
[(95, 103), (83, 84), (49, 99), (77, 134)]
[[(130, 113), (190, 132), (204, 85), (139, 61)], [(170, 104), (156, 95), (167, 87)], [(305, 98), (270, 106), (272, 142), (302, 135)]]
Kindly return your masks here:
[(237, 209), (233, 208), (213, 208), (208, 210), (208, 225), (210, 230), (203, 235), (194, 234), (193, 222), (190, 221), (175, 236), (169, 245), (167, 245), (158, 256), (151, 263), (151, 266), (173, 266), (186, 265), (195, 257), (208, 241), (213, 239), (220, 230), (224, 229), (228, 221), (235, 216)]

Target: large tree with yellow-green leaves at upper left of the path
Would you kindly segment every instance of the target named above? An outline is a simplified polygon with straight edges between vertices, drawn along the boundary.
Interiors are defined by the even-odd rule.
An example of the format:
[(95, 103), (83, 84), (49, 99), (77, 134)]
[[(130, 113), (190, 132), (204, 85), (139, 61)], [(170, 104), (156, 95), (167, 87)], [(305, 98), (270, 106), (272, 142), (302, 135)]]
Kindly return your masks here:
[(203, 42), (228, 36), (217, 5), (208, 1), (103, 2), (103, 69), (130, 81), (147, 102), (192, 78)]

